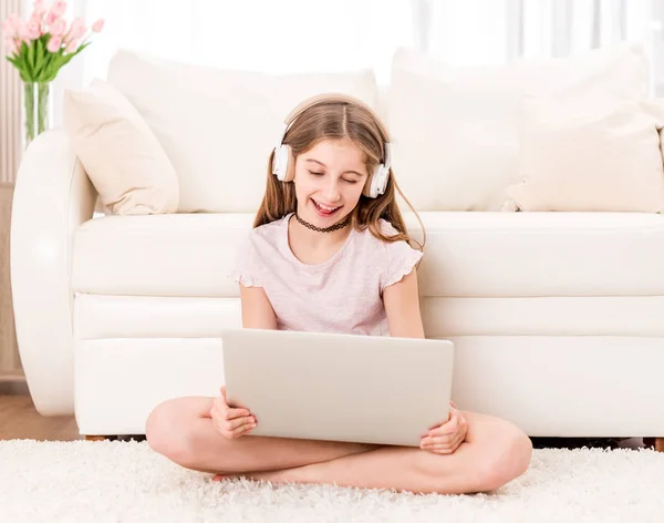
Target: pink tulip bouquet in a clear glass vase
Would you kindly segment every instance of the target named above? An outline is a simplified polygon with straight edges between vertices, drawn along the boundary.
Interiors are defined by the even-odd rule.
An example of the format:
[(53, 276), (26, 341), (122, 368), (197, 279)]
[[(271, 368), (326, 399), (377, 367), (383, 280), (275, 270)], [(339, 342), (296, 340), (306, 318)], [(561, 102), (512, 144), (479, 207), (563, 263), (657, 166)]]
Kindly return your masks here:
[(50, 6), (45, 0), (35, 0), (28, 21), (12, 14), (2, 23), (7, 60), (17, 68), (23, 82), (28, 143), (48, 127), (51, 82), (90, 45), (87, 37), (104, 27), (104, 20), (100, 19), (89, 33), (80, 18), (68, 25), (63, 19), (65, 11), (66, 0), (53, 0)]

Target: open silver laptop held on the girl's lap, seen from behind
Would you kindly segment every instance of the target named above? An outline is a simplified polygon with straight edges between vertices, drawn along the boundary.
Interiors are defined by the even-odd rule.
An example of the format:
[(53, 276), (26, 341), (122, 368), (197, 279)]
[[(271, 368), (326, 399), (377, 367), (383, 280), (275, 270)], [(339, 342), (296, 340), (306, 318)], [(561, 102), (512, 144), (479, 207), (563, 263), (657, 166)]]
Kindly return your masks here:
[(227, 401), (256, 416), (250, 434), (418, 447), (448, 418), (449, 340), (264, 329), (221, 339)]

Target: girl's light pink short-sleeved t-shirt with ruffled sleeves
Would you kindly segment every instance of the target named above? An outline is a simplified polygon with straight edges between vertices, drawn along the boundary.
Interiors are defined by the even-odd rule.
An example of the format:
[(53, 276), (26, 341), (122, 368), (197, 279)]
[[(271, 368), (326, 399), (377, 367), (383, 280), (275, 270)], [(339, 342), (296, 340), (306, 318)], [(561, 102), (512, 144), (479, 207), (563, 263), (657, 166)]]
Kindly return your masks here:
[[(383, 289), (409, 274), (422, 253), (352, 229), (329, 260), (303, 264), (288, 243), (291, 216), (251, 229), (235, 280), (264, 289), (280, 330), (388, 336)], [(381, 227), (386, 236), (396, 233), (384, 219)]]

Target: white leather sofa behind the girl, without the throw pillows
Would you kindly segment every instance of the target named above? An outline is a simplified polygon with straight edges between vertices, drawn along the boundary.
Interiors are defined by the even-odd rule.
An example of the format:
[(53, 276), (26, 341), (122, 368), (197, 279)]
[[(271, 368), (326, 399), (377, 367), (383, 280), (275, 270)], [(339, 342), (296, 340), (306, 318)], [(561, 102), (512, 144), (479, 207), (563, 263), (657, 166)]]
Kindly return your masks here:
[[(426, 226), (419, 274), (425, 331), (455, 342), (458, 407), (508, 419), (531, 437), (664, 435), (664, 217), (501, 212), (505, 188), (515, 181), (509, 136), (496, 134), (489, 148), (475, 144), (468, 175), (458, 157), (449, 158), (455, 151), (468, 154), (468, 144), (455, 151), (444, 146), (447, 157), (440, 148), (418, 150), (437, 140), (422, 133), (438, 131), (432, 131), (432, 122), (421, 122), (422, 131), (408, 127), (417, 124), (407, 122), (408, 110), (417, 112), (424, 102), (403, 90), (434, 89), (425, 79), (430, 71), (423, 71), (430, 64), (408, 53), (397, 58), (402, 62), (395, 59), (395, 66), (407, 62), (402, 73), (422, 74), (422, 81), (408, 86), (413, 79), (395, 73), (398, 96), (388, 91), (381, 102), (372, 101), (398, 142), (396, 176)], [(571, 61), (554, 62), (556, 70), (550, 61), (521, 66), (535, 68), (531, 83), (541, 73), (537, 68), (546, 66), (544, 91), (552, 79), (569, 85), (570, 74), (583, 76), (592, 69), (589, 63), (603, 63), (596, 73), (604, 75), (598, 82), (603, 86), (624, 82), (615, 89), (629, 91), (643, 83), (634, 75), (631, 84), (624, 80), (624, 62), (610, 70), (599, 54), (579, 60), (582, 66)], [(203, 75), (205, 82), (240, 78), (246, 86), (264, 80), (241, 73), (211, 79), (215, 72), (194, 69), (187, 74)], [(505, 71), (481, 74), (505, 79)], [(282, 90), (280, 96), (263, 95), (260, 100), (272, 105), (247, 117), (264, 119), (266, 130), (249, 125), (257, 137), (247, 145), (234, 137), (235, 123), (214, 122), (232, 120), (232, 111), (239, 111), (224, 105), (228, 100), (209, 105), (218, 93), (199, 93), (180, 113), (173, 109), (183, 90), (201, 85), (191, 76), (178, 83), (173, 80), (177, 72), (173, 64), (120, 53), (108, 78), (136, 104), (174, 162), (181, 192), (177, 214), (94, 214), (96, 192), (63, 130), (40, 135), (18, 175), (11, 270), (21, 359), (38, 410), (45, 416), (75, 412), (82, 434), (142, 434), (158, 402), (218, 392), (224, 383), (220, 330), (241, 325), (238, 288), (228, 274), (258, 206), (270, 139), (290, 105), (305, 94)], [(172, 81), (170, 73), (176, 74)], [(239, 76), (229, 80), (229, 74)], [(427, 78), (439, 80), (440, 74)], [(473, 78), (446, 74), (448, 86)], [(618, 80), (611, 84), (606, 74)], [(373, 95), (375, 85), (366, 88), (373, 78), (339, 78), (323, 81), (365, 99)], [(279, 89), (288, 83), (279, 81), (286, 82)], [(516, 94), (526, 89), (510, 82), (496, 82), (495, 89), (510, 95), (510, 89)], [(308, 85), (320, 88), (315, 81)], [(485, 94), (490, 88), (477, 85)], [(528, 89), (537, 91), (532, 85)], [(247, 91), (236, 90), (234, 96), (256, 94)], [(483, 95), (471, 88), (459, 92)], [(443, 109), (454, 102), (447, 100)], [(423, 107), (438, 117), (443, 109), (434, 105)], [(210, 114), (217, 109), (224, 114)], [(193, 120), (185, 123), (184, 115)], [(466, 116), (474, 117), (471, 111), (455, 114)], [(465, 124), (474, 122), (457, 121), (457, 129)], [(194, 130), (198, 134), (191, 136)], [(408, 142), (408, 132), (418, 134)], [(234, 151), (258, 160), (242, 166)], [(496, 162), (496, 154), (507, 160)], [(453, 160), (456, 177), (447, 172)], [(495, 172), (484, 172), (491, 168), (487, 165)], [(419, 237), (414, 216), (406, 212), (405, 217)]]

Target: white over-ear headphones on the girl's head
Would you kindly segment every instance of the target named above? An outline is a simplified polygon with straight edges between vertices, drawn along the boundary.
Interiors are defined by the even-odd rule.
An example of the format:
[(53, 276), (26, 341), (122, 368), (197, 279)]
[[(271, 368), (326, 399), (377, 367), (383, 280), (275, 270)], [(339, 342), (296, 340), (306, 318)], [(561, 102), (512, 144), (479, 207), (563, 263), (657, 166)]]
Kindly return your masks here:
[(376, 125), (383, 133), (383, 136), (385, 136), (385, 139), (387, 140), (387, 142), (383, 144), (383, 148), (385, 152), (383, 163), (376, 165), (362, 189), (362, 194), (364, 196), (367, 196), (370, 198), (377, 198), (381, 194), (385, 193), (387, 182), (390, 181), (390, 168), (392, 167), (392, 144), (390, 143), (387, 131), (382, 125), (378, 116), (372, 111), (372, 109), (361, 100), (357, 100), (353, 96), (349, 96), (347, 94), (319, 94), (303, 101), (291, 111), (291, 113), (286, 117), (283, 132), (281, 133), (281, 139), (279, 140), (278, 145), (274, 147), (274, 156), (272, 160), (272, 174), (274, 174), (277, 178), (281, 182), (293, 181), (293, 178), (295, 177), (295, 158), (293, 157), (291, 146), (289, 144), (284, 144), (283, 139), (286, 137), (286, 133), (288, 132), (290, 126), (293, 124), (293, 122), (298, 119), (300, 114), (321, 102), (344, 102), (353, 105), (359, 105), (365, 109), (373, 116)]

